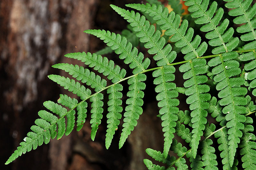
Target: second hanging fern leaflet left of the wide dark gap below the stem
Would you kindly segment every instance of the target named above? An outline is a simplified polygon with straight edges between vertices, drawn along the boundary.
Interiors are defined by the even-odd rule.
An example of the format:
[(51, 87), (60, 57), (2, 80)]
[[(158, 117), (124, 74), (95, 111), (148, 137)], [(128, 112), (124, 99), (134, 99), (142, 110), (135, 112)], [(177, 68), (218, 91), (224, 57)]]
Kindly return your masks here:
[(123, 86), (121, 84), (116, 84), (110, 88), (108, 88), (107, 92), (108, 96), (108, 114), (107, 114), (107, 134), (106, 134), (106, 148), (108, 149), (111, 141), (113, 139), (113, 135), (117, 130), (117, 126), (120, 123), (120, 119), (122, 115), (120, 114), (123, 111), (122, 100), (120, 100), (123, 94), (120, 92), (123, 90)]

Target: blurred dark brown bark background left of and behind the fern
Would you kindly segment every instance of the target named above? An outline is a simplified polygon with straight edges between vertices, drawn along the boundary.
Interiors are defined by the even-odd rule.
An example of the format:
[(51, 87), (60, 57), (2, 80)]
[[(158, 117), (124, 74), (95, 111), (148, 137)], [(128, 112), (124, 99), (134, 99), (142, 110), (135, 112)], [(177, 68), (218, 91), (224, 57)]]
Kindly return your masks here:
[[(4, 165), (19, 143), (26, 137), (37, 112), (45, 109), (43, 102), (57, 102), (65, 93), (47, 78), (50, 74), (65, 73), (53, 69), (56, 63), (83, 65), (64, 57), (71, 52), (97, 50), (105, 47), (98, 38), (83, 33), (86, 29), (105, 29), (121, 33), (128, 24), (113, 11), (109, 4), (126, 8), (124, 4), (141, 3), (140, 0), (1, 0), (0, 1), (0, 169), (146, 169), (145, 149), (162, 151), (161, 121), (156, 117), (157, 103), (152, 97), (154, 86), (147, 85), (144, 112), (137, 127), (121, 149), (117, 130), (110, 148), (105, 148), (105, 101), (102, 123), (95, 141), (90, 139), (89, 119), (79, 132), (74, 130), (60, 140), (39, 146), (9, 165)], [(139, 51), (142, 50), (139, 48)], [(128, 69), (115, 54), (106, 55), (121, 67)], [(127, 71), (127, 75), (131, 72)], [(150, 74), (147, 75), (150, 79)], [(150, 82), (150, 81), (149, 81)], [(126, 83), (127, 84), (127, 83)], [(128, 86), (124, 85), (124, 96)], [(146, 82), (147, 84), (147, 82)], [(151, 82), (152, 84), (152, 82)], [(107, 99), (106, 92), (105, 98)], [(123, 107), (125, 107), (125, 97)], [(88, 113), (87, 117), (90, 117)], [(122, 122), (121, 122), (122, 123)]]

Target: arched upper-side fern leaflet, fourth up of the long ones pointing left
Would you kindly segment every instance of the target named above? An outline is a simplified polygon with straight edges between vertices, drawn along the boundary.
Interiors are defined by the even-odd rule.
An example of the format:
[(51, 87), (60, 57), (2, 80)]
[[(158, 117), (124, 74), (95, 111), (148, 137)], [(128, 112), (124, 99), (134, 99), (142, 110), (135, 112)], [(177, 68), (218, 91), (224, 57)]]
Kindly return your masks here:
[(137, 74), (142, 70), (148, 68), (150, 60), (149, 58), (144, 59), (142, 53), (138, 54), (138, 49), (133, 48), (130, 42), (127, 43), (127, 39), (122, 37), (120, 34), (110, 33), (105, 30), (85, 30), (85, 33), (89, 33), (99, 37), (101, 40), (104, 40), (107, 43), (107, 46), (111, 47), (112, 50), (115, 50), (116, 54), (120, 54), (119, 58), (124, 59), (125, 64), (129, 64), (129, 67), (133, 70), (133, 74)]

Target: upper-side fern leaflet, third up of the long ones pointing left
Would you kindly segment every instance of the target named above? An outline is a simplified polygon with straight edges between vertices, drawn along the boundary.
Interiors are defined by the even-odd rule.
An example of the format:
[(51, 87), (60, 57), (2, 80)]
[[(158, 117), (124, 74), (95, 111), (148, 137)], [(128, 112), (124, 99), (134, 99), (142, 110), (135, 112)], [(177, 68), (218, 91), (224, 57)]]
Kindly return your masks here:
[(91, 54), (91, 53), (70, 53), (66, 54), (65, 57), (74, 58), (81, 60), (84, 64), (89, 67), (93, 67), (94, 70), (98, 70), (99, 73), (102, 73), (104, 76), (108, 76), (109, 80), (112, 80), (113, 83), (124, 78), (126, 71), (120, 69), (120, 66), (114, 64), (112, 60), (108, 60), (107, 57), (101, 55)]

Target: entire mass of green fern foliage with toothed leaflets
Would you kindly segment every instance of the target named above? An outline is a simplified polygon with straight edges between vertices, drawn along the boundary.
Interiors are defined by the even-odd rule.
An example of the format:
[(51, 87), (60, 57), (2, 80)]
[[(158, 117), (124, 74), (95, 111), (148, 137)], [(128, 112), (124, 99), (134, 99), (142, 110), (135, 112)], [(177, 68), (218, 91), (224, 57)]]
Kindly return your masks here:
[[(65, 55), (80, 60), (98, 73), (68, 63), (53, 65), (53, 68), (66, 71), (73, 78), (59, 75), (48, 77), (76, 94), (80, 100), (60, 94), (59, 104), (44, 102), (44, 107), (54, 114), (46, 110), (38, 112), (40, 119), (35, 121), (32, 131), (6, 164), (32, 148), (49, 143), (50, 138), (60, 139), (64, 134), (70, 134), (75, 124), (79, 131), (89, 113), (92, 140), (95, 139), (101, 119), (103, 116), (107, 117), (107, 149), (123, 117), (119, 141), (121, 148), (143, 113), (143, 90), (146, 88), (144, 82), (147, 79), (146, 73), (152, 71), (164, 146), (163, 152), (149, 148), (146, 152), (165, 166), (155, 165), (151, 160), (144, 159), (148, 169), (172, 170), (175, 169), (174, 166), (177, 169), (256, 168), (256, 143), (251, 117), (256, 112), (256, 6), (251, 5), (252, 0), (233, 0), (225, 4), (225, 7), (232, 8), (228, 10), (218, 7), (215, 1), (186, 0), (188, 17), (182, 15), (181, 9), (169, 11), (160, 2), (150, 2), (151, 4), (126, 5), (145, 16), (115, 5), (111, 7), (130, 23), (138, 41), (148, 49), (148, 54), (153, 55), (157, 66), (148, 69), (150, 56), (144, 56), (138, 48), (132, 47), (132, 43), (123, 35), (105, 30), (84, 31), (103, 40), (108, 46), (108, 52), (115, 51), (125, 64), (129, 64), (132, 74), (126, 76), (126, 70), (95, 53)], [(181, 7), (179, 0), (169, 2), (171, 7)], [(240, 24), (236, 29), (232, 27), (234, 24), (229, 19), (231, 17), (224, 17), (226, 11), (229, 16), (234, 17), (234, 24)], [(191, 23), (194, 23), (194, 29), (189, 26)], [(196, 29), (200, 29), (202, 33), (195, 33)], [(239, 36), (236, 36), (236, 32)], [(180, 53), (179, 57), (177, 53)], [(180, 56), (184, 57), (183, 61)], [(174, 83), (177, 81), (175, 74), (177, 77), (178, 70), (183, 73), (182, 87), (177, 87)], [(100, 75), (106, 76), (112, 84), (108, 85), (107, 80)], [(180, 77), (178, 75), (178, 79)], [(125, 80), (129, 89), (123, 104), (123, 85), (120, 83)], [(103, 110), (105, 90), (108, 94), (106, 115)], [(186, 98), (189, 110), (182, 110), (177, 99), (179, 95)], [(87, 108), (88, 100), (91, 109)], [(175, 133), (184, 143), (178, 142)], [(214, 147), (216, 145), (218, 150)], [(178, 158), (169, 155), (169, 151), (177, 154)], [(184, 157), (189, 159), (189, 164)]]

